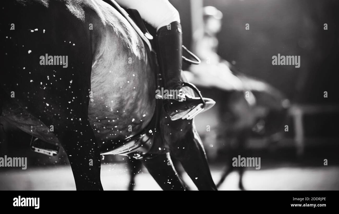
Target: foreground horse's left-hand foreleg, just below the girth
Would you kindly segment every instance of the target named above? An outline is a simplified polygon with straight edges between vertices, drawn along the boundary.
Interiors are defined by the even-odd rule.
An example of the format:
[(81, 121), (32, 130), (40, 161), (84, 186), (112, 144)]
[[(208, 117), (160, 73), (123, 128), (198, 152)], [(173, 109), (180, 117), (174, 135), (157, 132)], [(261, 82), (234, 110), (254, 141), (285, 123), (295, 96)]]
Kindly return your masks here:
[(145, 159), (142, 163), (163, 190), (185, 190), (168, 153)]

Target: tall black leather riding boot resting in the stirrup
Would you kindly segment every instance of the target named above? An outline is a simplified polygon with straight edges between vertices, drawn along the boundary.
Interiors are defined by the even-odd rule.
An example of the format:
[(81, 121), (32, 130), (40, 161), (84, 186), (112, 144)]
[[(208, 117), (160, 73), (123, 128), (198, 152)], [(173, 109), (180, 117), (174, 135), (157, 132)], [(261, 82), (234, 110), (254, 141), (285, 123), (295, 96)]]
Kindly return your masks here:
[[(192, 119), (200, 112), (212, 108), (215, 101), (203, 98), (200, 91), (191, 83), (181, 81), (182, 67), (182, 33), (179, 22), (172, 22), (157, 31), (158, 55), (162, 73), (164, 75), (164, 88), (175, 89), (178, 96), (171, 99), (164, 98), (164, 109), (171, 120)], [(182, 87), (188, 86), (199, 97), (194, 97), (192, 90), (184, 91)]]

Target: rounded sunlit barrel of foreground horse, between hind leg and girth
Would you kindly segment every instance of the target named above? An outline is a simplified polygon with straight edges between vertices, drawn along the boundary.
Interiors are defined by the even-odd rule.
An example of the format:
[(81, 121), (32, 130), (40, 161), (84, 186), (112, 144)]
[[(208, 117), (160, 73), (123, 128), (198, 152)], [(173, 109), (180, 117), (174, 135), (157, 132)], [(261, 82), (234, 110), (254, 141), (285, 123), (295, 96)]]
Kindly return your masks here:
[(104, 28), (92, 65), (89, 119), (99, 145), (105, 148), (138, 134), (155, 109), (150, 52), (132, 26), (120, 18), (119, 14), (112, 17), (117, 22)]

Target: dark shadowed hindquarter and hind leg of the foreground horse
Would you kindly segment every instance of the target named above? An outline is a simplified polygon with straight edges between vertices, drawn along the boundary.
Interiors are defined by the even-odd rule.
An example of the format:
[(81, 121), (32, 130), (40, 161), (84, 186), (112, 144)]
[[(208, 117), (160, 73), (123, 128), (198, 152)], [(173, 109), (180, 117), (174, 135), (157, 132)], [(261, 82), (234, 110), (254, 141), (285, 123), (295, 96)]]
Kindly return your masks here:
[(2, 42), (6, 63), (0, 84), (7, 95), (15, 92), (13, 101), (25, 111), (47, 127), (54, 126), (77, 190), (102, 190), (100, 151), (88, 120), (91, 33), (88, 24), (74, 16), (64, 2), (48, 3), (48, 7), (38, 1), (4, 5), (1, 24), (19, 24), (15, 30), (1, 28), (1, 39), (4, 35), (11, 39)]

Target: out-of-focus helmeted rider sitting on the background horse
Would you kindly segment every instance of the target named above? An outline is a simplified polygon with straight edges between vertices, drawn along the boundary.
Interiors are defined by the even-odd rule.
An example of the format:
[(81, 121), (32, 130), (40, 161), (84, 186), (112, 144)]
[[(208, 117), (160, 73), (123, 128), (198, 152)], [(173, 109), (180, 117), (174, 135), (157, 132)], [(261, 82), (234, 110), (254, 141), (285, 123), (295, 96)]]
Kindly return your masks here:
[(203, 8), (203, 25), (193, 34), (193, 49), (201, 59), (201, 64), (189, 68), (194, 77), (191, 81), (204, 87), (242, 91), (244, 85), (231, 70), (232, 64), (217, 53), (217, 34), (221, 30), (222, 17), (222, 12), (213, 6)]

